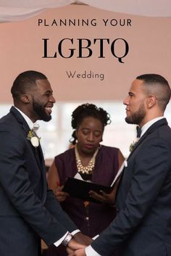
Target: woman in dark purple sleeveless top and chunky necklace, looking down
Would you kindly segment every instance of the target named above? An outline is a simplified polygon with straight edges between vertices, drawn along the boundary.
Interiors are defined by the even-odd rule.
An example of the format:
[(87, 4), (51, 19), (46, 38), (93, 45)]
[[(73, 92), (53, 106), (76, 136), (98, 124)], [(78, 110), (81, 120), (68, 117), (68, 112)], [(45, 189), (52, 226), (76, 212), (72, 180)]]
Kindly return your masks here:
[[(49, 189), (54, 191), (62, 208), (83, 234), (96, 236), (114, 219), (114, 194), (91, 192), (96, 202), (84, 202), (70, 197), (62, 191), (67, 177), (81, 176), (85, 181), (92, 181), (104, 186), (111, 186), (124, 157), (120, 149), (101, 144), (104, 127), (111, 123), (109, 114), (94, 104), (82, 104), (72, 112), (71, 125), (74, 129), (70, 142), (72, 149), (54, 157), (48, 176)], [(50, 247), (47, 256), (67, 255), (62, 247)], [(115, 256), (115, 255), (114, 255)]]

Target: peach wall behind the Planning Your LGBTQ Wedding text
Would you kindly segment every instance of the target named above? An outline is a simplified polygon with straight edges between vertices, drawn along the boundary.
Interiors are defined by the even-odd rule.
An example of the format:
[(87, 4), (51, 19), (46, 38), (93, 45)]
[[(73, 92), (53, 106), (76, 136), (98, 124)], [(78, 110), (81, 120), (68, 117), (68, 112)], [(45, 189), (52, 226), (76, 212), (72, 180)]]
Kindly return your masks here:
[[(51, 26), (54, 19), (96, 19), (92, 26)], [(38, 19), (46, 19), (49, 26), (38, 26)], [(131, 20), (131, 26), (104, 25), (102, 20)], [(130, 82), (142, 73), (160, 73), (171, 83), (171, 18), (138, 17), (115, 12), (107, 12), (88, 6), (70, 5), (58, 9), (49, 9), (36, 17), (22, 22), (0, 24), (1, 102), (11, 102), (9, 93), (12, 81), (24, 70), (39, 70), (47, 75), (58, 100), (123, 99), (128, 92)], [(92, 46), (93, 57), (70, 59), (57, 57), (43, 59), (42, 38), (49, 39), (49, 55), (57, 51), (62, 38), (125, 38), (129, 44), (129, 53), (120, 63), (105, 46), (106, 58), (97, 57), (99, 47)], [(78, 46), (76, 46), (78, 47)], [(67, 49), (66, 49), (67, 52)], [(117, 47), (121, 54), (122, 46)], [(104, 73), (104, 80), (69, 79), (66, 71), (92, 70)]]

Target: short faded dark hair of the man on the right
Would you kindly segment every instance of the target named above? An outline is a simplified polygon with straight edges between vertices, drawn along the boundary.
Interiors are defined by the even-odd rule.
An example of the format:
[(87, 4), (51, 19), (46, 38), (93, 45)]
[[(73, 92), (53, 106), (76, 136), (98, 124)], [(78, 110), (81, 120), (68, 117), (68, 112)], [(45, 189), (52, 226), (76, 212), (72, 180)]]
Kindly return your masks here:
[(171, 96), (170, 85), (167, 80), (158, 74), (138, 75), (136, 79), (143, 80), (148, 93), (156, 96), (160, 109), (164, 111), (170, 102)]

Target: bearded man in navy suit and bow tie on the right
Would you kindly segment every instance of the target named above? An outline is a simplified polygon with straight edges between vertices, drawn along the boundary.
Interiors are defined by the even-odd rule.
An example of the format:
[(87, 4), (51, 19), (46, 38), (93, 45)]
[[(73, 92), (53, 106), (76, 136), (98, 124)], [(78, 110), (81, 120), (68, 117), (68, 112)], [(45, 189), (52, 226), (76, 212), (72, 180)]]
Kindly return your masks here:
[[(170, 86), (161, 75), (138, 76), (130, 86), (127, 123), (141, 138), (130, 153), (117, 190), (117, 217), (75, 256), (171, 255), (171, 130), (164, 118)], [(74, 248), (73, 248), (74, 249)]]

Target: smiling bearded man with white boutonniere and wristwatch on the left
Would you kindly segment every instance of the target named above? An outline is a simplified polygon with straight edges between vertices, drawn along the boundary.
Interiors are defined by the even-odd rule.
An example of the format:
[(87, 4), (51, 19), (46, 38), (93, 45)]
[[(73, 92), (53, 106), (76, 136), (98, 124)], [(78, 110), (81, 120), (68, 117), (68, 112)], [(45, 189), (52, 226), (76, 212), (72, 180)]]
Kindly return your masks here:
[(49, 80), (26, 71), (11, 92), (14, 107), (0, 120), (0, 255), (41, 255), (41, 238), (49, 245), (80, 247), (77, 241), (88, 237), (47, 189), (40, 141), (32, 130), (36, 120), (51, 120), (55, 99)]

